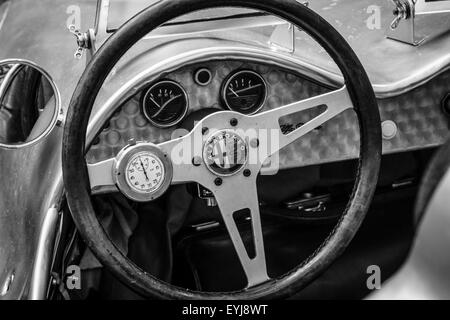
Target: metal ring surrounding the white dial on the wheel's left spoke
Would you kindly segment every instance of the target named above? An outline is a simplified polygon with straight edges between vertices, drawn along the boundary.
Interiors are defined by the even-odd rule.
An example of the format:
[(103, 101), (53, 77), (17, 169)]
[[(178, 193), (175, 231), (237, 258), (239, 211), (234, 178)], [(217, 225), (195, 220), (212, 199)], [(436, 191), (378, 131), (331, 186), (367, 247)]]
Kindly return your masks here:
[[(149, 153), (158, 158), (164, 166), (164, 178), (160, 187), (153, 192), (138, 191), (131, 187), (126, 178), (126, 169), (129, 162), (139, 153)], [(169, 156), (156, 145), (150, 143), (137, 143), (125, 147), (116, 157), (113, 171), (114, 183), (127, 198), (137, 202), (153, 201), (161, 197), (170, 187), (173, 177), (173, 167)]]

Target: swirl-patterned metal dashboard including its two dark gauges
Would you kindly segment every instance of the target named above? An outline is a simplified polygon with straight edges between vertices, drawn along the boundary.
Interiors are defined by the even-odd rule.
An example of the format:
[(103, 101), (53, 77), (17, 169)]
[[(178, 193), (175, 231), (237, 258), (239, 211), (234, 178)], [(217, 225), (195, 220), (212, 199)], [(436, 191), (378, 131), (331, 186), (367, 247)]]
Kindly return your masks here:
[[(450, 71), (411, 92), (379, 99), (383, 153), (443, 143), (448, 121), (441, 110)], [(208, 60), (185, 65), (153, 81), (118, 106), (86, 155), (88, 163), (116, 156), (131, 139), (161, 143), (189, 131), (212, 112), (255, 114), (326, 93), (333, 88), (295, 70), (252, 60)], [(283, 118), (281, 129), (293, 130), (315, 116), (307, 110)], [(320, 113), (320, 112), (319, 112)], [(286, 146), (278, 155), (281, 169), (357, 158), (359, 128), (347, 110)]]

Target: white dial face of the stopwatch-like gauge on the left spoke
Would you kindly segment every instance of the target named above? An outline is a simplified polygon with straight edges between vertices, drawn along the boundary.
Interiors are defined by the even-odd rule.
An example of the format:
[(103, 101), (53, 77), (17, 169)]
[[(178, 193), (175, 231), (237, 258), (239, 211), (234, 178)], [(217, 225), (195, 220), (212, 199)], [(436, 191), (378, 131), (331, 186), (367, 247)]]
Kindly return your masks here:
[(125, 166), (126, 182), (139, 193), (153, 193), (164, 182), (164, 165), (151, 152), (139, 152)]

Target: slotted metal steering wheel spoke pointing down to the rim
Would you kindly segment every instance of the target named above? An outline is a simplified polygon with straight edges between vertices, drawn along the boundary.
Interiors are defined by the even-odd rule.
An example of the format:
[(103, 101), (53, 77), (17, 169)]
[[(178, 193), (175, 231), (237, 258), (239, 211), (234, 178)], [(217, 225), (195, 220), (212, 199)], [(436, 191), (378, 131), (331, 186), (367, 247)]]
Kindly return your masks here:
[[(237, 175), (212, 188), (223, 221), (239, 261), (247, 276), (247, 287), (270, 280), (267, 275), (264, 240), (259, 212), (256, 177)], [(251, 221), (250, 239), (239, 230), (239, 224)], [(245, 241), (250, 240), (250, 241)], [(246, 246), (245, 243), (248, 245)]]

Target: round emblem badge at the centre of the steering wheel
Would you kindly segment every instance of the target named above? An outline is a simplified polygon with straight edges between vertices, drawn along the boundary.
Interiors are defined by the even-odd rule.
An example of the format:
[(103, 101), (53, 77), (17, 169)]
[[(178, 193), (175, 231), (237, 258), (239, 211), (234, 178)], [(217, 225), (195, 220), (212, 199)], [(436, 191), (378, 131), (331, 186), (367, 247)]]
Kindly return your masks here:
[(203, 147), (206, 167), (219, 176), (237, 174), (247, 164), (248, 142), (234, 130), (219, 130)]

